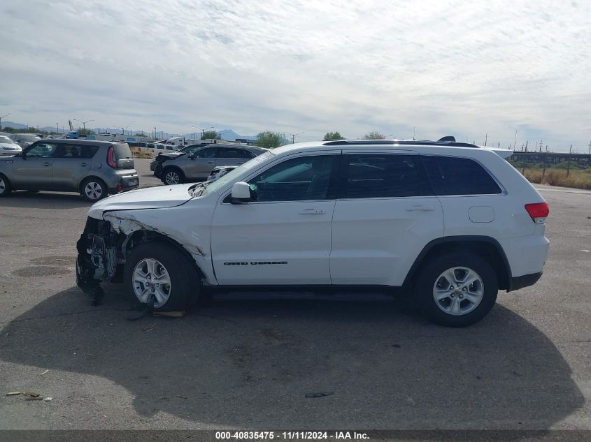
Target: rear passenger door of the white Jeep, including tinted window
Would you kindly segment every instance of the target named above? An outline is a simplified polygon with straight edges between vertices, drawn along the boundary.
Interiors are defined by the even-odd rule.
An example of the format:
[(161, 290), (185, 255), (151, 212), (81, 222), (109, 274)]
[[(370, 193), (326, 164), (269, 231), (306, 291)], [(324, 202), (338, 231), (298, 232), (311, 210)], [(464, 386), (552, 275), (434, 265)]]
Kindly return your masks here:
[(333, 284), (401, 286), (443, 211), (412, 151), (343, 152), (332, 223)]

